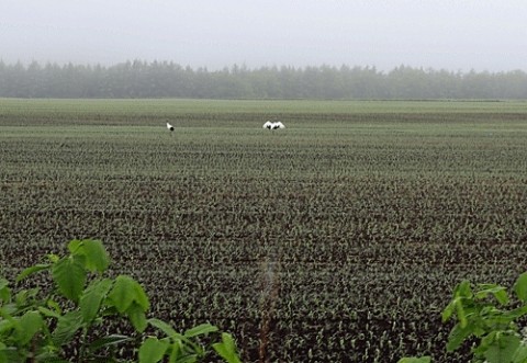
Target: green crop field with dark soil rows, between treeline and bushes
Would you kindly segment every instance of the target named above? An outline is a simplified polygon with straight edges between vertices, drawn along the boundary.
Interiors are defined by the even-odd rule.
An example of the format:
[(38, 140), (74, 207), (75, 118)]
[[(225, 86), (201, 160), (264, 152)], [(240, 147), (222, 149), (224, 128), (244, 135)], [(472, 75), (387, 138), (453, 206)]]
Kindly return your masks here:
[(0, 275), (74, 238), (244, 362), (467, 361), (453, 286), (527, 270), (527, 103), (0, 100)]

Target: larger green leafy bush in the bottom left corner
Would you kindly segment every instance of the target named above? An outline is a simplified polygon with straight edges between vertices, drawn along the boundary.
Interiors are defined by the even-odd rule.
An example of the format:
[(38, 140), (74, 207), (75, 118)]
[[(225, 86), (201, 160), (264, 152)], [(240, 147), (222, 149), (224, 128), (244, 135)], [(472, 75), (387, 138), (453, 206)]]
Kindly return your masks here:
[[(147, 320), (149, 300), (138, 282), (127, 275), (102, 276), (110, 260), (101, 241), (72, 240), (68, 250), (68, 256), (51, 256), (51, 263), (30, 266), (16, 276), (20, 282), (49, 271), (49, 291), (21, 290), (13, 296), (9, 281), (0, 277), (0, 363), (119, 362), (112, 348), (139, 341), (138, 333), (148, 324), (166, 337), (147, 337), (139, 343), (141, 363), (164, 358), (169, 362), (197, 362), (209, 354), (199, 339), (215, 333), (217, 328), (203, 324), (180, 334), (162, 320)], [(97, 327), (119, 317), (127, 318), (136, 336), (98, 336)], [(64, 348), (71, 345), (77, 355), (66, 356)], [(229, 334), (223, 333), (222, 341), (211, 347), (227, 362), (236, 362), (236, 347)]]

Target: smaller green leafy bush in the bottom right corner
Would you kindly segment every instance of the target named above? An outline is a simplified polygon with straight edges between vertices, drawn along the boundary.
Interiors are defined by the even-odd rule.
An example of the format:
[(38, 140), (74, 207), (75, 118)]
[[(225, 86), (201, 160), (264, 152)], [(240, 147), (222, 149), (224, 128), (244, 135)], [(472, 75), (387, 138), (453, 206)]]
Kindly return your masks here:
[[(447, 351), (459, 349), (468, 339), (479, 339), (472, 349), (474, 362), (527, 363), (526, 337), (523, 337), (518, 319), (527, 315), (527, 272), (516, 280), (515, 307), (511, 306), (507, 288), (497, 284), (478, 284), (472, 288), (462, 281), (453, 290), (453, 297), (442, 311), (442, 321), (456, 319), (450, 331)], [(422, 362), (405, 358), (400, 363)], [(429, 362), (426, 361), (426, 362)]]

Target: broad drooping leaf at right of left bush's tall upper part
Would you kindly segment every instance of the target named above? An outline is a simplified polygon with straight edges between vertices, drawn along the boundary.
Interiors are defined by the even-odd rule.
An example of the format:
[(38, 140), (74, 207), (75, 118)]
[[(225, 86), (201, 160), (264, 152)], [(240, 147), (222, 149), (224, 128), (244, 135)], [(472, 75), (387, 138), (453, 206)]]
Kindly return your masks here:
[(119, 275), (115, 279), (108, 299), (110, 305), (114, 306), (121, 314), (124, 314), (134, 302), (143, 308), (143, 311), (149, 308), (148, 296), (146, 296), (143, 287), (134, 279), (126, 275)]

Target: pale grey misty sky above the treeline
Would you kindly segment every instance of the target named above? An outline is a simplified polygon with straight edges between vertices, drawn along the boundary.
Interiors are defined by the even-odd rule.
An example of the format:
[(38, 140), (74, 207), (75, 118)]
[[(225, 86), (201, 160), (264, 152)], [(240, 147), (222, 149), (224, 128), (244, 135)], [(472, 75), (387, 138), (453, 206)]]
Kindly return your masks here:
[(526, 0), (0, 0), (0, 59), (527, 70)]

